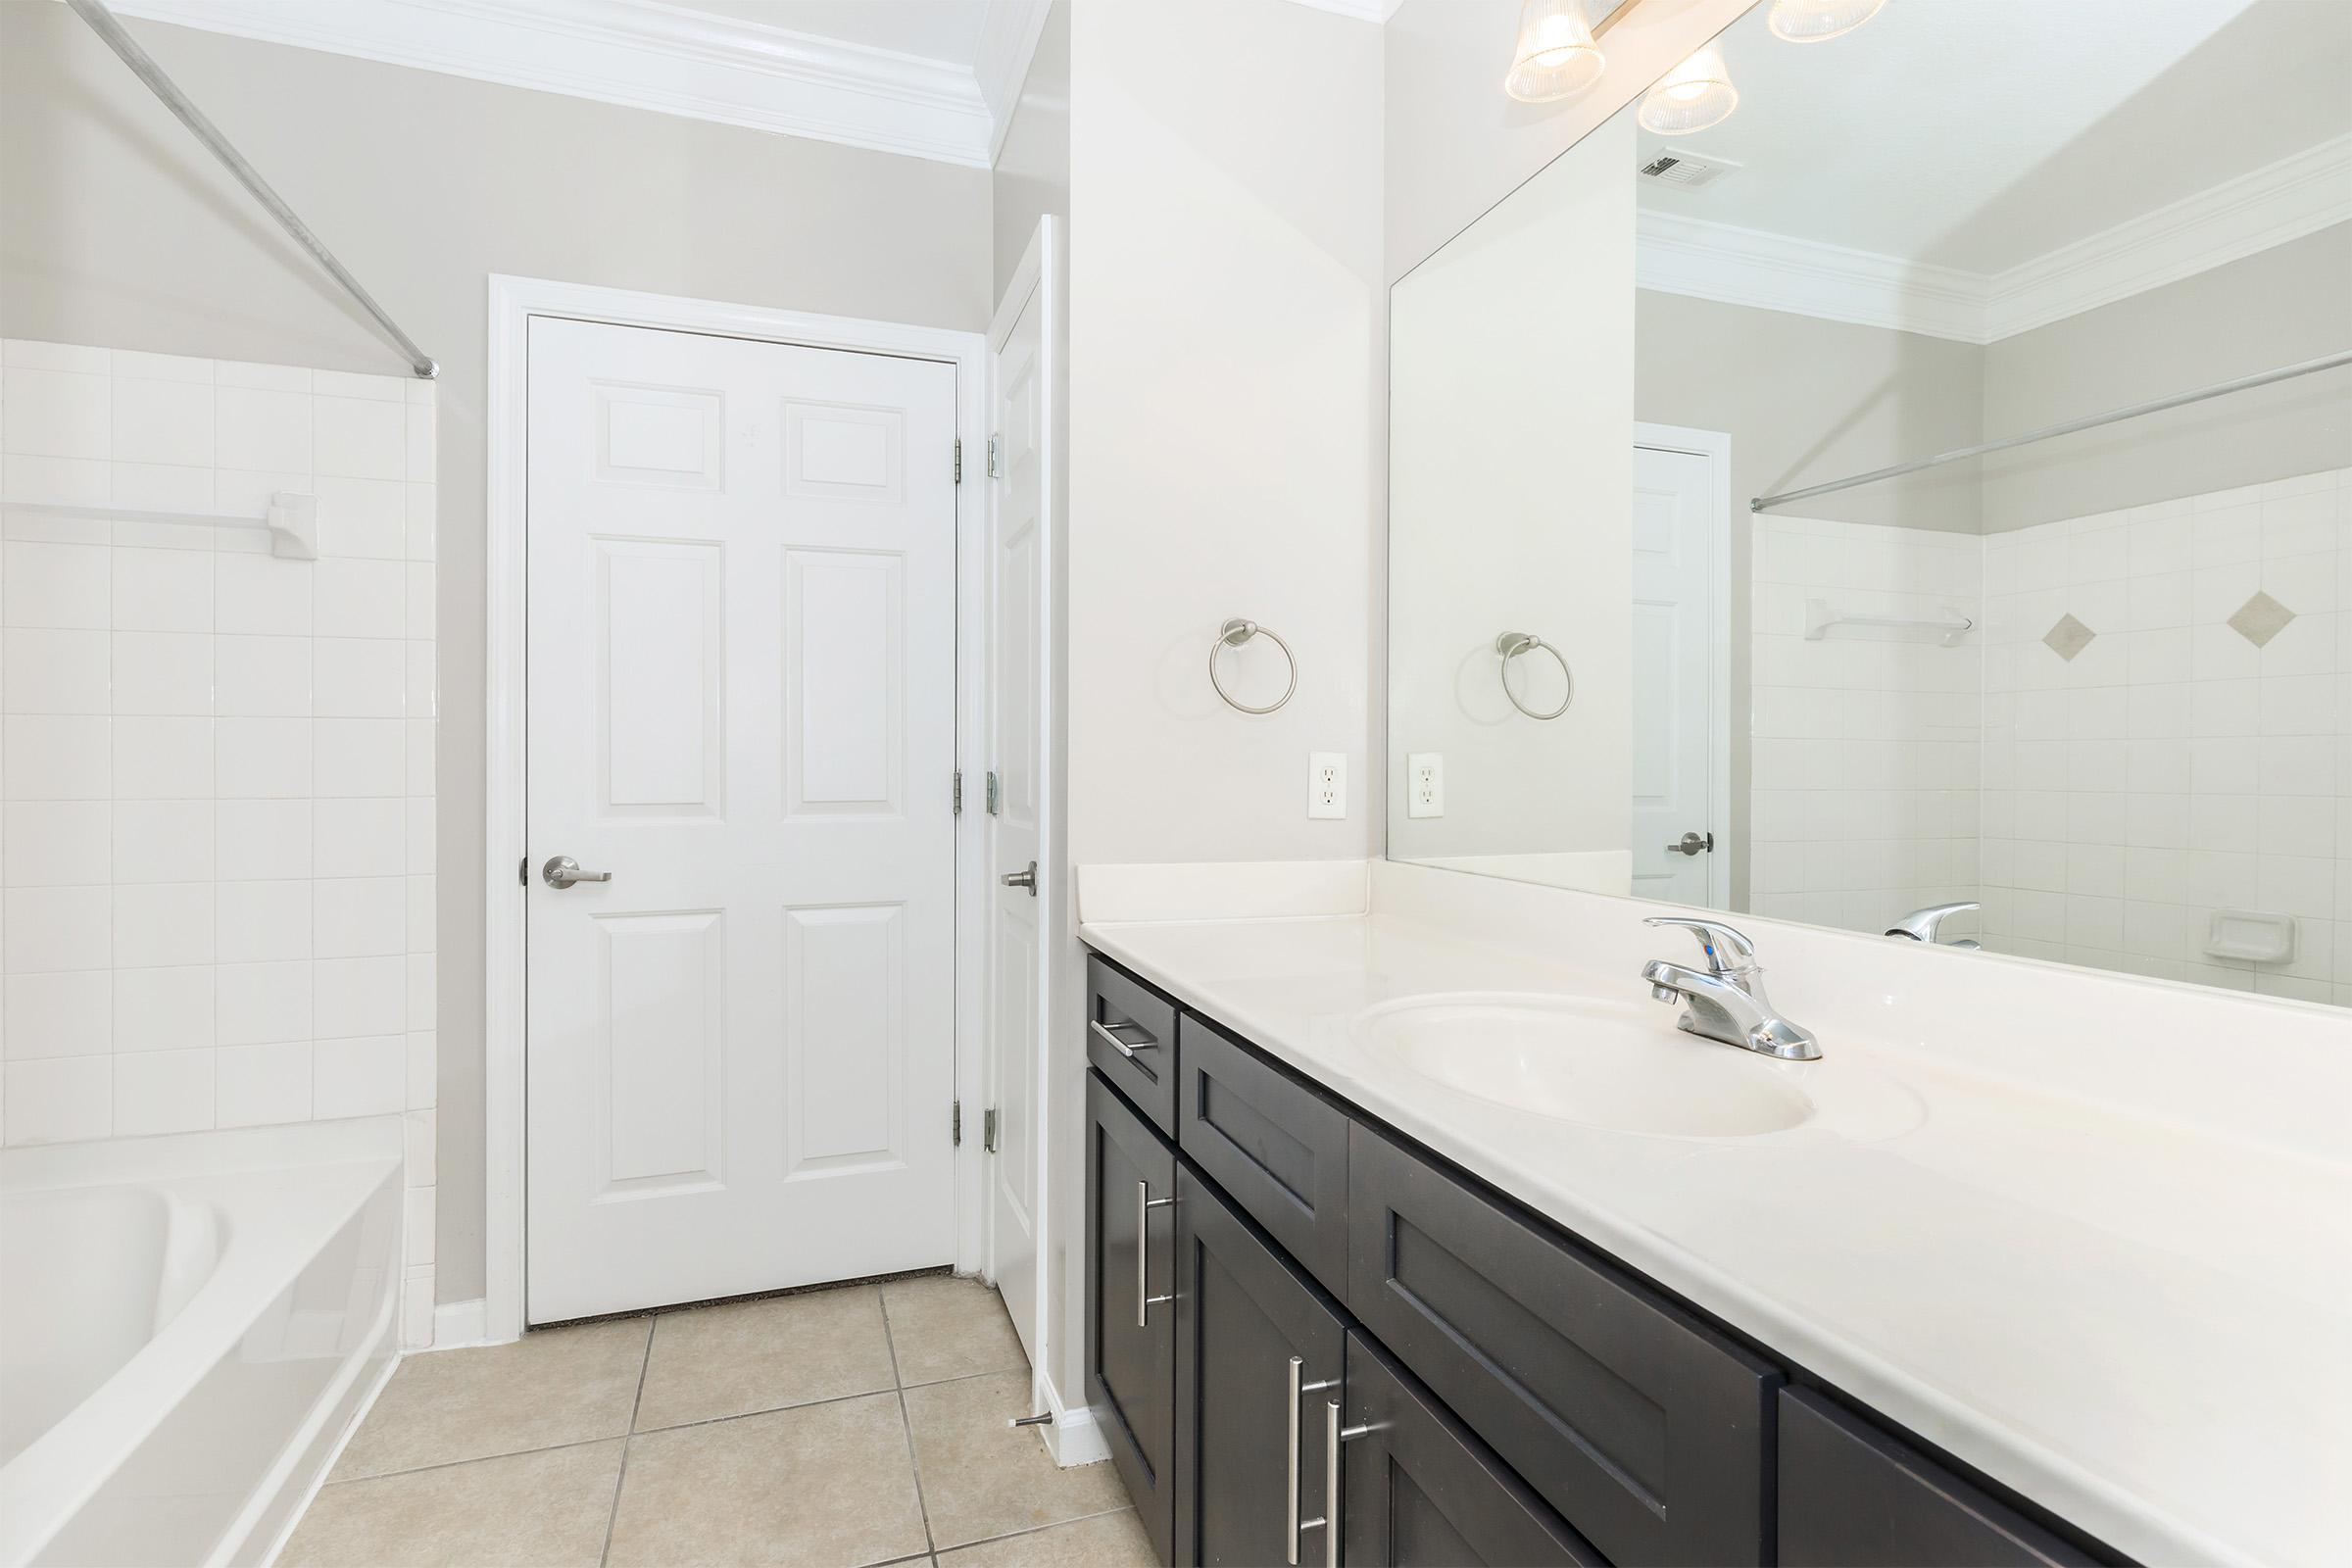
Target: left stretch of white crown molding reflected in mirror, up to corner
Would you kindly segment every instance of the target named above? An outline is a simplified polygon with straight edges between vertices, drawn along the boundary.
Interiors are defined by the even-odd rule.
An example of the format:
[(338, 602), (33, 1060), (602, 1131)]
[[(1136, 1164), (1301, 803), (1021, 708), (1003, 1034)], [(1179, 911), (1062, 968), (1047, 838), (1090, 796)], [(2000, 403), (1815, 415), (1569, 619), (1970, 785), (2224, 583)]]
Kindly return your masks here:
[(1649, 209), (1637, 219), (1635, 252), (1644, 289), (1985, 341), (1987, 282), (1978, 273)]

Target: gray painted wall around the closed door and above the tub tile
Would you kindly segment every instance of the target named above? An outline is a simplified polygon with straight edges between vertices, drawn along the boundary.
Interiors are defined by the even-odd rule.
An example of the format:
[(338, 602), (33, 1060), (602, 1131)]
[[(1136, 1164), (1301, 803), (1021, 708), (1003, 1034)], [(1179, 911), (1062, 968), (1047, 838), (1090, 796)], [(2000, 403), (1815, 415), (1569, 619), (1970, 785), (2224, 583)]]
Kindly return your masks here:
[[(990, 176), (132, 21), (440, 357), (442, 1300), (482, 1293), (482, 491), (489, 273), (981, 329)], [(397, 374), (61, 5), (0, 5), (0, 331)]]

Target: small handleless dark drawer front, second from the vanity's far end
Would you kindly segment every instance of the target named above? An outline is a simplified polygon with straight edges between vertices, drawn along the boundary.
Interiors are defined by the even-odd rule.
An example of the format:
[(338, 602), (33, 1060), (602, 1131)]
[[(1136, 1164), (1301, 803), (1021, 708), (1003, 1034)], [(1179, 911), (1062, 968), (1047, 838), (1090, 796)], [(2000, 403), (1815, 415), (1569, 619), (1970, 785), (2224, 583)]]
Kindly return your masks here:
[(1200, 1018), (1176, 1025), (1176, 1147), (1348, 1298), (1348, 1117)]

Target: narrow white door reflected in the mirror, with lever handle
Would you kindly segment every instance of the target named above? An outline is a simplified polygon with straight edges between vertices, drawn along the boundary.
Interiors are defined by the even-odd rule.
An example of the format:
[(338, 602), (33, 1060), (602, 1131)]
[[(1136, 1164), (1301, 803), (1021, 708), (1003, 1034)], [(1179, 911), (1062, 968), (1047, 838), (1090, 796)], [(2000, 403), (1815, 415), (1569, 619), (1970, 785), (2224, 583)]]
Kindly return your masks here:
[(1642, 425), (1632, 454), (1632, 893), (1724, 907), (1724, 437)]

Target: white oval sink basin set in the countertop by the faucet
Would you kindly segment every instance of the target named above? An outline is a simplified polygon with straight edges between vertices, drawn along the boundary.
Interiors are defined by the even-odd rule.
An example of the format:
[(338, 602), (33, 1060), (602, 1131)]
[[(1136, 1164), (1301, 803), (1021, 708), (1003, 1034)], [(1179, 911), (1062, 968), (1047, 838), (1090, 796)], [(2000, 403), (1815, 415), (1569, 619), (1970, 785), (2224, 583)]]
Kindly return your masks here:
[(1651, 1001), (1416, 997), (1371, 1009), (1357, 1041), (1454, 1093), (1653, 1138), (1764, 1138), (1809, 1121), (1886, 1135), (1919, 1103), (1858, 1063), (1778, 1063), (1693, 1039)]

